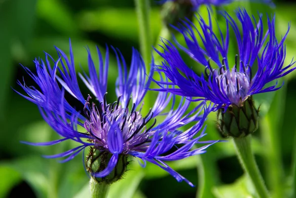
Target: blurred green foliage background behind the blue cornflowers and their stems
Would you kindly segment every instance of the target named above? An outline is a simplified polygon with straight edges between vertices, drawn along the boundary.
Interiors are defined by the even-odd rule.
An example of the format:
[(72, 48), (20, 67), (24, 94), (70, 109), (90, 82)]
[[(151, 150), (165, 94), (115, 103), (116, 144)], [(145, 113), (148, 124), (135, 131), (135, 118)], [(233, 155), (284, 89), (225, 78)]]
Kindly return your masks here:
[[(276, 12), (276, 33), (287, 38), (287, 64), (296, 54), (296, 3), (275, 1), (276, 8), (244, 2), (254, 14)], [(233, 11), (238, 3), (224, 6)], [(205, 13), (205, 8), (203, 13)], [(152, 42), (158, 43), (163, 30), (161, 5), (151, 1), (150, 22)], [(219, 18), (219, 16), (218, 16)], [(72, 143), (50, 147), (33, 147), (20, 141), (44, 142), (58, 138), (42, 120), (37, 106), (19, 96), (22, 91), (17, 80), (32, 80), (19, 63), (35, 71), (33, 60), (43, 58), (46, 51), (56, 56), (54, 46), (69, 52), (72, 40), (77, 71), (87, 70), (88, 45), (95, 54), (95, 45), (104, 52), (106, 43), (118, 47), (130, 62), (132, 46), (140, 49), (139, 27), (133, 0), (0, 0), (0, 198), (84, 198), (87, 197), (88, 177), (84, 172), (82, 154), (61, 164), (52, 155), (71, 148)], [(189, 61), (189, 60), (188, 60)], [(194, 63), (193, 63), (194, 64)], [(80, 66), (81, 67), (80, 67)], [(116, 61), (111, 55), (111, 71)], [(198, 70), (198, 69), (197, 69)], [(109, 76), (109, 95), (114, 97), (116, 73)], [(296, 72), (285, 78), (276, 94), (262, 95), (259, 131), (253, 148), (259, 168), (268, 188), (275, 197), (293, 197), (293, 147), (296, 130)], [(86, 88), (83, 90), (87, 93)], [(146, 98), (153, 101), (153, 98)], [(259, 105), (259, 104), (258, 104)], [(270, 108), (269, 108), (270, 107)], [(219, 139), (215, 114), (207, 120), (208, 139)], [(137, 160), (129, 167), (125, 179), (112, 185), (110, 198), (181, 198), (198, 197), (201, 191), (207, 198), (246, 198), (250, 187), (243, 175), (231, 141), (219, 143), (207, 153), (169, 163), (196, 187), (178, 183), (160, 168), (148, 164), (142, 168)], [(295, 173), (294, 173), (295, 174)], [(294, 178), (294, 179), (293, 179)], [(294, 184), (295, 185), (295, 184)], [(250, 188), (249, 188), (250, 187)], [(252, 193), (252, 192), (251, 192)]]

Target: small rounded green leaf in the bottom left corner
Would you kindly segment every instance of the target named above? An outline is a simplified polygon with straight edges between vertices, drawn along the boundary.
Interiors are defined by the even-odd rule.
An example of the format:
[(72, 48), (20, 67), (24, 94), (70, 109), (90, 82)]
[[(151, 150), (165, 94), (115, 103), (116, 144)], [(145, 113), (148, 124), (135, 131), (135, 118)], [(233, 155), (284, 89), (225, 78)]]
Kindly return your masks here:
[(0, 165), (0, 198), (5, 198), (9, 190), (22, 180), (21, 174), (14, 168)]

